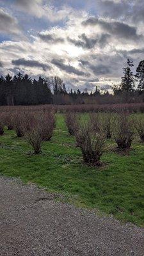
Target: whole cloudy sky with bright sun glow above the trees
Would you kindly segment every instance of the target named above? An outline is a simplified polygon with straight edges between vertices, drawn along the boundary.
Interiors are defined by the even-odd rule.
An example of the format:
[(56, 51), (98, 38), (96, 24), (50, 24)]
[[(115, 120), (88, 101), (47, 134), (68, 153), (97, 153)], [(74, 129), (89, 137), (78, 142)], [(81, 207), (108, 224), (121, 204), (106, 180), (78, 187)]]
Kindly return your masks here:
[(108, 89), (144, 59), (143, 25), (143, 0), (0, 0), (0, 75)]

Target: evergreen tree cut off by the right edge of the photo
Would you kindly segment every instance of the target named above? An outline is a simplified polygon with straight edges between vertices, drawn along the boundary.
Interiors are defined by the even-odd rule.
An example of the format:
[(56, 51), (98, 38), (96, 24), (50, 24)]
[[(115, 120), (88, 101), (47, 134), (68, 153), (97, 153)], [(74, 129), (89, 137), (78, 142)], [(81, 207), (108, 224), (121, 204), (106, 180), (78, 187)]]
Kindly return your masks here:
[(144, 60), (141, 60), (136, 68), (136, 79), (138, 81), (138, 90), (144, 90)]

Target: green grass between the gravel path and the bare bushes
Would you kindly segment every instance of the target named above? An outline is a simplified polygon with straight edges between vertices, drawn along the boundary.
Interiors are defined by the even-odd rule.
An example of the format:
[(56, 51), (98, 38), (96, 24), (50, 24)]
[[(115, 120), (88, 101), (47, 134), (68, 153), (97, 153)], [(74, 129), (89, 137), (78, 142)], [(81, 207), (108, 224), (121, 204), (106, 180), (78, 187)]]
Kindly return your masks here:
[(0, 137), (0, 173), (63, 193), (77, 206), (144, 226), (144, 145), (135, 141), (125, 155), (111, 150), (115, 147), (113, 140), (107, 142), (101, 168), (86, 166), (63, 116), (57, 115), (54, 136), (42, 145), (40, 155), (29, 154), (32, 149), (23, 138), (5, 131)]

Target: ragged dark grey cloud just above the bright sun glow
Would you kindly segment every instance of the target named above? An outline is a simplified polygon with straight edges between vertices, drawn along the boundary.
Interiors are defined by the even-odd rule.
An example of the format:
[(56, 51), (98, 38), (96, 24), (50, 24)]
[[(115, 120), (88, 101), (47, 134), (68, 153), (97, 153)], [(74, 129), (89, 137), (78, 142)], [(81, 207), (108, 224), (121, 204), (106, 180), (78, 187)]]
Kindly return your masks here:
[(109, 37), (110, 35), (108, 34), (102, 34), (100, 36), (96, 36), (95, 38), (88, 38), (88, 36), (83, 33), (81, 36), (79, 36), (79, 40), (72, 39), (70, 37), (67, 37), (67, 40), (77, 47), (92, 49), (96, 44), (99, 44), (100, 47), (104, 47), (107, 44)]

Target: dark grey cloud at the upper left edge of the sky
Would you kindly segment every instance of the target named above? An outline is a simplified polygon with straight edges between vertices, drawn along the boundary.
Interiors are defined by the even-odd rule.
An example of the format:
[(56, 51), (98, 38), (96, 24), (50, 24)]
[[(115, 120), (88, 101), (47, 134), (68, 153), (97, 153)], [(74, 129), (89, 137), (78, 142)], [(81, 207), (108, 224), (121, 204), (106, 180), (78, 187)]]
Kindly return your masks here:
[(4, 9), (0, 8), (0, 31), (2, 33), (17, 34), (20, 29), (17, 20)]

